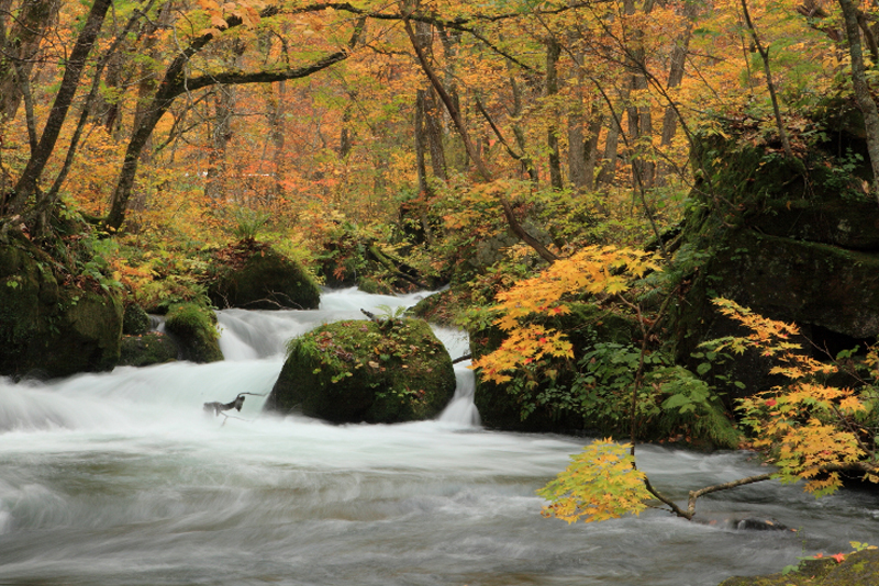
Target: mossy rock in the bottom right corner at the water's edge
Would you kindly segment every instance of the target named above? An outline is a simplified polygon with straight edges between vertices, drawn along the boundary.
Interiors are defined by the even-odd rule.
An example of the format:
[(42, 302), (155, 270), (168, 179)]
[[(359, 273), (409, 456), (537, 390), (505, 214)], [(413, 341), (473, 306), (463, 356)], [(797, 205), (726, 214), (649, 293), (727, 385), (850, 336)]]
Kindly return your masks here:
[(732, 577), (720, 586), (867, 586), (879, 584), (879, 550), (864, 550), (846, 556), (805, 560), (787, 574)]

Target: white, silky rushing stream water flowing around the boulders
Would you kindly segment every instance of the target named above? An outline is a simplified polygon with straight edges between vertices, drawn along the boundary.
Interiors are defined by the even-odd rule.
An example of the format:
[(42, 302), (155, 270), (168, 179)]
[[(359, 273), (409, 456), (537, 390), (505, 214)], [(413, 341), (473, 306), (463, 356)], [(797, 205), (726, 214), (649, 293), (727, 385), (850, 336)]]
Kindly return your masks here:
[[(713, 586), (879, 542), (874, 493), (816, 502), (769, 483), (700, 499), (713, 525), (543, 519), (534, 491), (587, 440), (479, 428), (464, 367), (435, 421), (331, 426), (264, 415), (256, 396), (224, 422), (202, 413), (267, 393), (291, 336), (414, 301), (348, 290), (313, 312), (225, 311), (224, 362), (0, 380), (0, 584)], [(453, 358), (466, 352), (438, 334)], [(744, 453), (639, 454), (679, 498), (765, 470)], [(747, 516), (800, 530), (724, 522)]]

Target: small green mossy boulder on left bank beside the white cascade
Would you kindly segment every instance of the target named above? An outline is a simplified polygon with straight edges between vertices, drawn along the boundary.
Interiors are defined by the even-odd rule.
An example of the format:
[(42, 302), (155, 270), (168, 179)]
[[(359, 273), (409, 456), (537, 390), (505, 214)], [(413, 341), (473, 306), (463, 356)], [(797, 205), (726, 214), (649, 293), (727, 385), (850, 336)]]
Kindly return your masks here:
[(173, 305), (165, 316), (165, 330), (173, 335), (179, 347), (179, 358), (191, 362), (223, 360), (216, 315), (196, 303)]

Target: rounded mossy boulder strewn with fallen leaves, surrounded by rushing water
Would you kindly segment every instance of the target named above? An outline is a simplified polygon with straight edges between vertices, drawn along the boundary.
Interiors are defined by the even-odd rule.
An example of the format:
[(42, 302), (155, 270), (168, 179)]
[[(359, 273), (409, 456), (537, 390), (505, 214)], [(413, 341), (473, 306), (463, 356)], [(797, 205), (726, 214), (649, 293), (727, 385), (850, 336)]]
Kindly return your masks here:
[(452, 359), (426, 322), (336, 322), (292, 340), (267, 408), (392, 424), (435, 417), (454, 393)]

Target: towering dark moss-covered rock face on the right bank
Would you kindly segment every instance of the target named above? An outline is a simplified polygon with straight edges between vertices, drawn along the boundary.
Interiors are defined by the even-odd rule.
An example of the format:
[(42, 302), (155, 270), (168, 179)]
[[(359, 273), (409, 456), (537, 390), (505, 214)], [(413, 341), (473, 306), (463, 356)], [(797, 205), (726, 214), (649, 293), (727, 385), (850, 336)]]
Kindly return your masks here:
[[(841, 126), (809, 129), (828, 138), (794, 159), (744, 122), (694, 144), (699, 172), (677, 256), (682, 298), (671, 328), (678, 359), (691, 368), (702, 360), (692, 358), (701, 342), (745, 334), (717, 314), (713, 297), (795, 323), (819, 358), (817, 348), (835, 354), (879, 336), (879, 206), (865, 190), (863, 140)], [(777, 383), (770, 368), (746, 352), (712, 372), (744, 383), (727, 386), (734, 398)]]

